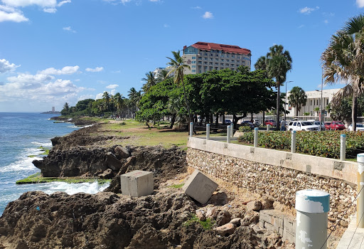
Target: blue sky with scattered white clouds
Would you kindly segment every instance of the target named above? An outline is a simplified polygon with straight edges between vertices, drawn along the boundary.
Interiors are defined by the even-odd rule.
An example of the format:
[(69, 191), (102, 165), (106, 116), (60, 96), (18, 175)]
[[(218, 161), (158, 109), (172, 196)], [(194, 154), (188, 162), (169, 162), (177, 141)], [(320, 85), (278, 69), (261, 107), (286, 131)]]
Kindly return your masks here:
[[(145, 73), (198, 41), (291, 54), (287, 89), (320, 88), (320, 56), (364, 0), (0, 0), (0, 112), (61, 110), (140, 90)], [(325, 86), (341, 88), (343, 85)]]

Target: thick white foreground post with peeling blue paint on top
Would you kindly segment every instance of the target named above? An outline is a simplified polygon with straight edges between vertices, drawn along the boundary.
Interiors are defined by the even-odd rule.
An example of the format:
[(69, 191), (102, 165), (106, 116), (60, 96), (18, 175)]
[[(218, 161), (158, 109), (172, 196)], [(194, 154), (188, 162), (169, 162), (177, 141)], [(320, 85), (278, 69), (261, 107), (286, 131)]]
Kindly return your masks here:
[(296, 249), (327, 248), (330, 194), (317, 189), (296, 192)]

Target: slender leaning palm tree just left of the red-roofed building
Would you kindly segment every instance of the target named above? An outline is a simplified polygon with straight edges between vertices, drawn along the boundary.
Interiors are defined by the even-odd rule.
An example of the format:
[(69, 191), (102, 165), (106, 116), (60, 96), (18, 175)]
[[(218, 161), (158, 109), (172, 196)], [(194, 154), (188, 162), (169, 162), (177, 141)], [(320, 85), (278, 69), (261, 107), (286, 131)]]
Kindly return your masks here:
[(168, 72), (168, 75), (172, 75), (174, 74), (173, 77), (173, 82), (176, 85), (179, 85), (180, 83), (182, 83), (183, 86), (183, 97), (185, 99), (186, 102), (186, 108), (187, 108), (187, 112), (188, 112), (188, 117), (190, 119), (190, 122), (193, 122), (193, 118), (191, 116), (191, 112), (190, 112), (190, 107), (188, 105), (188, 101), (187, 101), (187, 97), (186, 97), (186, 88), (185, 88), (185, 83), (183, 82), (183, 70), (185, 68), (190, 69), (189, 65), (184, 64), (184, 60), (183, 57), (180, 55), (181, 51), (172, 51), (173, 53), (173, 58), (167, 57), (169, 61), (169, 63), (167, 63), (167, 65), (171, 66), (171, 70)]

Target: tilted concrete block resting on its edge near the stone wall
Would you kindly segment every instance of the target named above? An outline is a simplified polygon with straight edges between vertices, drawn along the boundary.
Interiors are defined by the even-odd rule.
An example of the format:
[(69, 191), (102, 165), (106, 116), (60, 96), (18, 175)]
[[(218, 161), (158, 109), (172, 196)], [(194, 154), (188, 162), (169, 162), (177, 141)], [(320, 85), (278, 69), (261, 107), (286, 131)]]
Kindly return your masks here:
[(218, 184), (215, 181), (209, 179), (196, 169), (183, 186), (183, 191), (199, 203), (205, 204), (217, 188)]

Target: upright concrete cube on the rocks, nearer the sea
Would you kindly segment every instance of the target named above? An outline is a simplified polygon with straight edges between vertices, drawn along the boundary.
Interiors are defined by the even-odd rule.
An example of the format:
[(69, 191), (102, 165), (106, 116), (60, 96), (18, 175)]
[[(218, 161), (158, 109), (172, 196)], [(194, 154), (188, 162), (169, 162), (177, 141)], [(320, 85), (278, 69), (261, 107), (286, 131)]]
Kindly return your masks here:
[(125, 196), (148, 196), (153, 194), (153, 173), (135, 170), (120, 176), (122, 194)]

